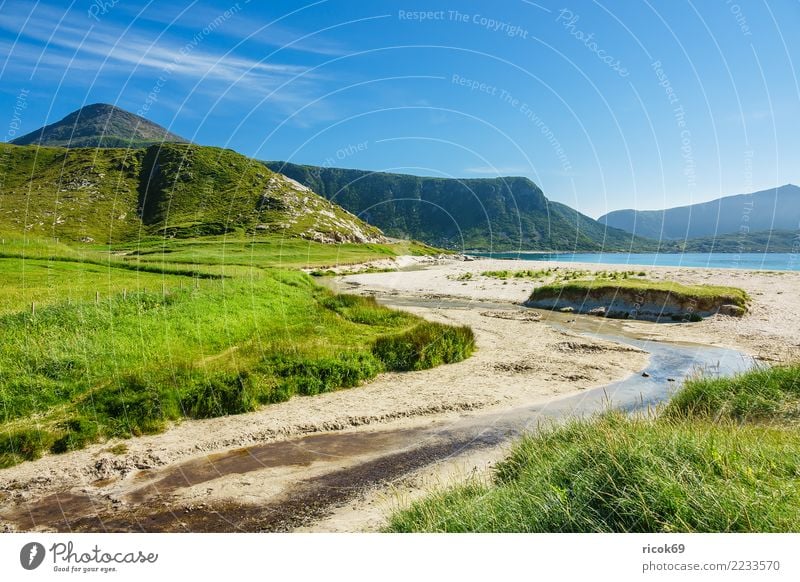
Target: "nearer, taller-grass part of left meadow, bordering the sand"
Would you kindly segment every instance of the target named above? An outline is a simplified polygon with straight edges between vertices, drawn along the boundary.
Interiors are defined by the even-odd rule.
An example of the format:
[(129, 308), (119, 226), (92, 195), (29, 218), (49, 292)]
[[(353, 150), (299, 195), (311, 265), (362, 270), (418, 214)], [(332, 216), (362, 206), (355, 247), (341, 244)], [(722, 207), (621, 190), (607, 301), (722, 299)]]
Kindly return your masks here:
[[(94, 274), (57, 282), (63, 291), (81, 276)], [(154, 276), (157, 287), (169, 279)], [(334, 295), (299, 271), (198, 283), (98, 302), (76, 285), (69, 302), (0, 315), (0, 466), (458, 361), (473, 345), (459, 328)]]

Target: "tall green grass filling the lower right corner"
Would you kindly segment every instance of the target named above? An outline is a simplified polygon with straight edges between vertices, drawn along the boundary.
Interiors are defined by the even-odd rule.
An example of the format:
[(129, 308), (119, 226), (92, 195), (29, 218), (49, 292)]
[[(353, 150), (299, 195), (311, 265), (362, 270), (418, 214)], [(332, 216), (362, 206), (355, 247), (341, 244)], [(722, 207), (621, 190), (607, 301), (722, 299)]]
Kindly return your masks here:
[(491, 483), (436, 493), (396, 532), (800, 531), (800, 365), (699, 379), (656, 418), (522, 439)]

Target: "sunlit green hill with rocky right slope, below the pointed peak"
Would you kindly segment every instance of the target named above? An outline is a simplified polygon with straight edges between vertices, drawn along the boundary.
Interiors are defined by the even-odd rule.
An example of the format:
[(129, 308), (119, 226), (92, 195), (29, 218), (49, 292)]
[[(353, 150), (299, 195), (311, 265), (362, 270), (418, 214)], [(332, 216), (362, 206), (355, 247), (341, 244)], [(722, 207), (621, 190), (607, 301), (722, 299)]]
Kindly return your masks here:
[(379, 242), (381, 232), (231, 150), (0, 144), (0, 232), (85, 242), (281, 234)]

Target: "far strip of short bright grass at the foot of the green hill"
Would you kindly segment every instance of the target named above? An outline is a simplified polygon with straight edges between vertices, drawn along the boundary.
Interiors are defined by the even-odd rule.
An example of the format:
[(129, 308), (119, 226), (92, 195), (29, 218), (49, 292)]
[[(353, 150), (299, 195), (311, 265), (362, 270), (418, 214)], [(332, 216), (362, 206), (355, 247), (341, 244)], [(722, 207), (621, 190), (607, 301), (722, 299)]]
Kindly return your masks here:
[(259, 279), (275, 267), (324, 268), (430, 252), (411, 241), (334, 245), (282, 236), (148, 239), (111, 246), (9, 237), (0, 242), (0, 314), (30, 309), (31, 303), (41, 307), (93, 300), (97, 294), (202, 285), (197, 279)]

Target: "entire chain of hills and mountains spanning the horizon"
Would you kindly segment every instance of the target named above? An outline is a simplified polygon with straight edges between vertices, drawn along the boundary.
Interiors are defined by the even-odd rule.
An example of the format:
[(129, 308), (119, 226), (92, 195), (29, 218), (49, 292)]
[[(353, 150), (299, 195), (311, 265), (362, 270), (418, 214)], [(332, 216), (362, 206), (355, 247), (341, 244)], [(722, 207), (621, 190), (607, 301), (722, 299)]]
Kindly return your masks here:
[(189, 144), (102, 103), (12, 143), (0, 145), (0, 232), (109, 242), (280, 232), (369, 242), (383, 240), (383, 229), (475, 251), (789, 252), (798, 245), (800, 188), (793, 185), (664, 211), (621, 210), (596, 221), (548, 200), (527, 178), (257, 162)]

